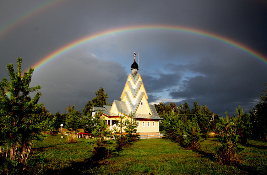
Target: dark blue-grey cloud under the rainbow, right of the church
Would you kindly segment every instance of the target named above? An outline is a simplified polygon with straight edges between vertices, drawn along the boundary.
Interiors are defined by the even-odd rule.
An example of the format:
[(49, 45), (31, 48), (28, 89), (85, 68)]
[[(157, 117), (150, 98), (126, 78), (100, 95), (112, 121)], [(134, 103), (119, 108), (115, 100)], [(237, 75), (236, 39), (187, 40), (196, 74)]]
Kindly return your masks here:
[(203, 58), (196, 64), (169, 65), (172, 70), (186, 67), (189, 72), (201, 74), (183, 80), (182, 87), (170, 93), (172, 98), (185, 98), (188, 103), (197, 101), (220, 115), (223, 115), (223, 110), (233, 112), (238, 104), (246, 112), (251, 110), (264, 88), (266, 65), (250, 59), (230, 61), (226, 58), (223, 61)]

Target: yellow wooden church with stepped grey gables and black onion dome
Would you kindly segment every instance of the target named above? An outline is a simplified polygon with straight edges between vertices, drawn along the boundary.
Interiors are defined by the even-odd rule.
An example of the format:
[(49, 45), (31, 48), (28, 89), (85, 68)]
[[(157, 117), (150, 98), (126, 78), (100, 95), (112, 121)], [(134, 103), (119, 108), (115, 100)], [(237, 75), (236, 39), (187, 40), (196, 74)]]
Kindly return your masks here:
[(164, 119), (159, 117), (154, 105), (147, 101), (148, 95), (141, 75), (138, 73), (139, 66), (135, 61), (135, 55), (134, 52), (134, 63), (131, 66), (132, 73), (126, 80), (120, 97), (121, 101), (114, 100), (112, 106), (92, 107), (90, 111), (94, 116), (95, 111), (100, 109), (111, 130), (113, 130), (116, 119), (119, 120), (119, 114), (125, 114), (124, 119), (127, 119), (129, 114), (132, 113), (133, 118), (137, 119), (137, 132), (140, 132), (140, 135), (160, 135), (159, 123)]

